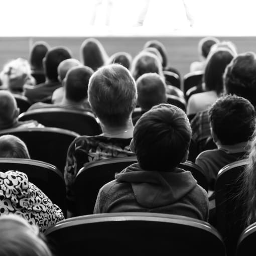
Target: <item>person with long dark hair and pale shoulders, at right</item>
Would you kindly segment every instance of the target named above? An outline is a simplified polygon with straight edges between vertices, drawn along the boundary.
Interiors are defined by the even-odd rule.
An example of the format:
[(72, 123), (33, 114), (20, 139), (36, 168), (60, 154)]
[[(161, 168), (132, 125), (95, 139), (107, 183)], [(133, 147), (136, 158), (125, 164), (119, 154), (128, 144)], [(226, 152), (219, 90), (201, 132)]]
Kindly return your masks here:
[(226, 49), (218, 49), (208, 55), (203, 81), (206, 91), (193, 94), (188, 100), (187, 114), (206, 110), (223, 92), (223, 73), (234, 55)]

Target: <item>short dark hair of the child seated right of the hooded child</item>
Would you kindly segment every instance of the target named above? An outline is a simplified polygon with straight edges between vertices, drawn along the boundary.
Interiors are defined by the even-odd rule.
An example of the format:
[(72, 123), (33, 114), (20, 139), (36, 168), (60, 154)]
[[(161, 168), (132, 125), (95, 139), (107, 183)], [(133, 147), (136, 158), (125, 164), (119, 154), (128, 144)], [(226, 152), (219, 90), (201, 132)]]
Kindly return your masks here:
[(209, 109), (212, 131), (222, 145), (247, 142), (254, 130), (255, 109), (245, 98), (225, 95)]

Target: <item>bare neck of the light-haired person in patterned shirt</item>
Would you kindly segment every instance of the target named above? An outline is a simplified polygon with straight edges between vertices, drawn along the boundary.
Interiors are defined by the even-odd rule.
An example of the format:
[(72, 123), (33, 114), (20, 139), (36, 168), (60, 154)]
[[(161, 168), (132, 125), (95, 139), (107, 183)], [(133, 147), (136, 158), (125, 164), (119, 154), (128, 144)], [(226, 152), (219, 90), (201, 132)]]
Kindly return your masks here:
[(133, 138), (134, 133), (134, 125), (132, 118), (129, 118), (129, 120), (125, 123), (123, 126), (119, 127), (109, 127), (107, 125), (104, 125), (101, 122), (101, 129), (102, 129), (102, 136), (105, 137), (112, 137), (112, 138)]

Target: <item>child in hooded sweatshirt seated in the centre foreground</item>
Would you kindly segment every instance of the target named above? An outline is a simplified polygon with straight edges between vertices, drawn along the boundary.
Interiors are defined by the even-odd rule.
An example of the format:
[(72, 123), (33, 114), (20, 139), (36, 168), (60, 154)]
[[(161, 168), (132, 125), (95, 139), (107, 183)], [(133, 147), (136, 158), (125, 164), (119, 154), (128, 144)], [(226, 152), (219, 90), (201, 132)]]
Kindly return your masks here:
[(105, 184), (94, 213), (157, 212), (208, 220), (208, 197), (191, 172), (177, 168), (188, 158), (189, 120), (180, 108), (160, 104), (142, 115), (131, 149), (138, 163)]

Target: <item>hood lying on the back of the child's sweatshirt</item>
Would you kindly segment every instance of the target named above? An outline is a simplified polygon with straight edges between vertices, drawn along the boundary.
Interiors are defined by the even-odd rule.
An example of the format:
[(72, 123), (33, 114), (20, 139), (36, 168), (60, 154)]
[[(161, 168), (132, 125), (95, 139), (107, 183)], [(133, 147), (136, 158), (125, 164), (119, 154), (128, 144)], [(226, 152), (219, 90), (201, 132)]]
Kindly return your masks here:
[(115, 179), (131, 183), (137, 202), (146, 208), (173, 204), (197, 185), (189, 171), (179, 168), (170, 172), (145, 171), (138, 163), (116, 173)]

